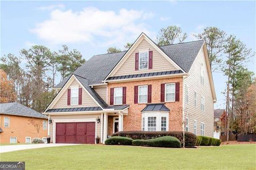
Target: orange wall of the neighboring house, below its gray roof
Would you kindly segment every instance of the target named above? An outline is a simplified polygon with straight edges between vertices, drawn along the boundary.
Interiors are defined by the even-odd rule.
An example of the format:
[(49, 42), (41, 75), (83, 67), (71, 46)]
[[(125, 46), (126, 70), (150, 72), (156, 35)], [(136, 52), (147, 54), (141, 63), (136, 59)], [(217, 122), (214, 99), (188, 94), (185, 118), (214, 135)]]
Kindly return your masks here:
[[(4, 117), (9, 117), (9, 128), (4, 127)], [(43, 130), (41, 126), (39, 133), (33, 125), (29, 123), (31, 117), (13, 116), (13, 115), (0, 115), (0, 127), (3, 132), (0, 133), (0, 143), (10, 143), (10, 137), (16, 137), (17, 143), (26, 143), (26, 137), (30, 137), (31, 141), (33, 138), (46, 138), (47, 129)], [(33, 118), (35, 121), (39, 121), (43, 124), (46, 121), (47, 126), (48, 120), (43, 118)], [(48, 127), (47, 127), (48, 128)]]

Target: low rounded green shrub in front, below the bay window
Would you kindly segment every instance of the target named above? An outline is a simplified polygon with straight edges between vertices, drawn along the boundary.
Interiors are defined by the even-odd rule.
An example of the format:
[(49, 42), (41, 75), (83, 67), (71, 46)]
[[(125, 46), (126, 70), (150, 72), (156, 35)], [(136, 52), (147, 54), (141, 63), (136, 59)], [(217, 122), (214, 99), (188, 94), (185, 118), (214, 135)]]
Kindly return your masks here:
[(166, 148), (181, 148), (179, 139), (175, 137), (159, 137), (154, 139), (137, 139), (132, 141), (134, 146), (149, 146), (149, 147), (166, 147)]

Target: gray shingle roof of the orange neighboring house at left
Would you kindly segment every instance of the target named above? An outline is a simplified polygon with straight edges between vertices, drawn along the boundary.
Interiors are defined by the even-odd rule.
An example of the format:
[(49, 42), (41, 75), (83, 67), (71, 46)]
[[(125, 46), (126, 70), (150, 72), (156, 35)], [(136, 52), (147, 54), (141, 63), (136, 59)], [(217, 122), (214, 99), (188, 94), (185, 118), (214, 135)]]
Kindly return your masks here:
[(19, 103), (1, 103), (0, 104), (0, 114), (6, 115), (16, 115), (16, 116), (26, 116), (26, 117), (36, 117), (36, 118), (47, 118), (47, 116), (42, 113), (36, 112), (33, 109), (21, 105)]

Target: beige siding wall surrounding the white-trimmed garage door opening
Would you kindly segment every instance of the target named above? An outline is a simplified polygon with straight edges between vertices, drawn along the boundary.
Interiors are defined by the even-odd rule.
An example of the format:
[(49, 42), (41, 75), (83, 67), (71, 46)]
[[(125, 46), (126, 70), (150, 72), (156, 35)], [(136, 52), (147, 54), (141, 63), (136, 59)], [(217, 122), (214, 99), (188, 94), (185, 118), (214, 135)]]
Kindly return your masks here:
[[(93, 118), (96, 120), (97, 117), (101, 117), (101, 113), (99, 114), (84, 114), (84, 115), (54, 115), (54, 116), (50, 116), (51, 119), (52, 119), (52, 123), (50, 124), (49, 126), (49, 130), (50, 130), (50, 136), (51, 136), (51, 142), (53, 142), (53, 125), (54, 125), (54, 120), (55, 119), (69, 119), (70, 122), (71, 120), (77, 120), (79, 118)], [(96, 126), (96, 136), (98, 135), (100, 138), (101, 138), (101, 122), (100, 123), (96, 123), (97, 126)]]

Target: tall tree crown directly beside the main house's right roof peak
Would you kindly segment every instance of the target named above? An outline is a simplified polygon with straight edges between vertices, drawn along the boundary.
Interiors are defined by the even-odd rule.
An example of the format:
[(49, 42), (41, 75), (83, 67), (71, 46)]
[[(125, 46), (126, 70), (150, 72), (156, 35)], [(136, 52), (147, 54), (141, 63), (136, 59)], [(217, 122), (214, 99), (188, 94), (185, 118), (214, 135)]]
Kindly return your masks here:
[(197, 39), (204, 39), (207, 45), (209, 61), (212, 72), (218, 69), (226, 43), (226, 32), (217, 27), (206, 27), (202, 33), (194, 35)]

